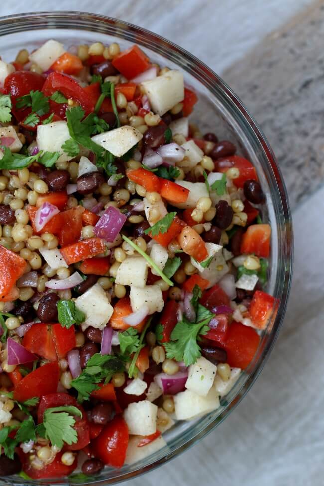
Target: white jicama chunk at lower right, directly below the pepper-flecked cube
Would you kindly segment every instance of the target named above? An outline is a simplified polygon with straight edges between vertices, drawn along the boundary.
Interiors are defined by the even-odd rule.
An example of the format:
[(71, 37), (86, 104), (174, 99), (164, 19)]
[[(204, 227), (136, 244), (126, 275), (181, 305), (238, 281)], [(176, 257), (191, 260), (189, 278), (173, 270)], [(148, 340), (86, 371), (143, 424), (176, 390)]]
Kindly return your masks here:
[(218, 394), (212, 387), (206, 397), (191, 390), (174, 395), (175, 417), (177, 420), (191, 420), (219, 407)]

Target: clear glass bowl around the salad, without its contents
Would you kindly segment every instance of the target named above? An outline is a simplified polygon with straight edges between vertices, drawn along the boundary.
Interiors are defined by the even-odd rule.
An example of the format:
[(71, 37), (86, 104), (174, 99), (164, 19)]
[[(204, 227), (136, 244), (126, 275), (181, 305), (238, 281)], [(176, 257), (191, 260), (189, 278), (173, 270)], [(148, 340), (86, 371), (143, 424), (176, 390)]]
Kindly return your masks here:
[(183, 71), (186, 85), (193, 87), (199, 97), (191, 119), (203, 132), (216, 132), (221, 139), (235, 142), (239, 152), (254, 164), (267, 196), (263, 218), (272, 227), (266, 290), (276, 298), (275, 309), (261, 336), (259, 352), (234, 388), (221, 400), (219, 409), (191, 422), (178, 422), (165, 434), (168, 446), (151, 456), (119, 470), (106, 468), (88, 481), (74, 478), (29, 482), (19, 476), (0, 478), (0, 485), (112, 485), (150, 471), (198, 442), (229, 415), (256, 380), (275, 342), (287, 305), (292, 272), (291, 217), (285, 185), (265, 136), (237, 96), (203, 62), (152, 32), (113, 18), (78, 12), (0, 18), (0, 54), (6, 61), (14, 59), (22, 47), (30, 51), (50, 38), (66, 46), (97, 41), (107, 45), (117, 41), (124, 49), (137, 43), (161, 66)]

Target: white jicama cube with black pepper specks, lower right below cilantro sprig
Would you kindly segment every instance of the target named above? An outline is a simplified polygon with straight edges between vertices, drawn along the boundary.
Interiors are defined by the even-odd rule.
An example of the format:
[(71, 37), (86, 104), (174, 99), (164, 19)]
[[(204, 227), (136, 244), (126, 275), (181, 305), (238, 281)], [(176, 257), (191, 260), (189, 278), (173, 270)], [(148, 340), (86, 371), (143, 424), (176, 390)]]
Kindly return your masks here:
[(217, 366), (208, 359), (198, 358), (194, 364), (189, 366), (189, 375), (185, 387), (202, 397), (206, 397), (214, 383), (216, 371)]

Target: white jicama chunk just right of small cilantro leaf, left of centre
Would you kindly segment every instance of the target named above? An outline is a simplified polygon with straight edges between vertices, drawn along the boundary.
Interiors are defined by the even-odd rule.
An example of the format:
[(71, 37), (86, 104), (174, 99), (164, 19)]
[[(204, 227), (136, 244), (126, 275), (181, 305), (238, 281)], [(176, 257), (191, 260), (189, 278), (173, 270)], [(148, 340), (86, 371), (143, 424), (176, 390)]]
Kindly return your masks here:
[(107, 294), (99, 284), (93, 285), (80, 295), (75, 300), (75, 305), (86, 316), (84, 323), (81, 324), (83, 331), (89, 326), (103, 329), (114, 311)]

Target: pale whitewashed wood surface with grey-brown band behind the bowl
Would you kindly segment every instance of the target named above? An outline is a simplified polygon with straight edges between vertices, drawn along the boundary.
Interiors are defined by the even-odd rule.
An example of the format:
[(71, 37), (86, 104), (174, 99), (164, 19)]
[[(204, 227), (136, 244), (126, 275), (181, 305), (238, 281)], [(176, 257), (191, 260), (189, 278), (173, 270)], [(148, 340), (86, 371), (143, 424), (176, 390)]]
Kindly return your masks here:
[[(153, 30), (189, 50), (223, 74), (256, 115), (280, 157), (289, 187), (294, 280), (285, 324), (265, 369), (214, 432), (174, 461), (127, 484), (324, 485), (321, 5), (312, 0), (0, 4), (0, 15), (58, 9), (105, 14)], [(305, 95), (299, 88), (309, 79), (304, 87), (312, 86)], [(257, 91), (254, 84), (259, 85)], [(296, 119), (302, 120), (302, 127), (292, 124), (289, 130)]]

